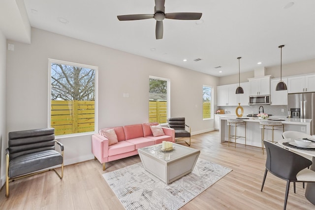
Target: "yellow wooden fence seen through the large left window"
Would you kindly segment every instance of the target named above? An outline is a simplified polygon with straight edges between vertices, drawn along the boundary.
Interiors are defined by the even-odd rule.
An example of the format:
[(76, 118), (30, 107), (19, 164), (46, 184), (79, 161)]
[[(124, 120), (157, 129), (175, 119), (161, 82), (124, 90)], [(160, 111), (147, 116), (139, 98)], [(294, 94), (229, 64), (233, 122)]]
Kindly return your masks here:
[(55, 135), (94, 131), (95, 102), (52, 100), (51, 127), (55, 128)]

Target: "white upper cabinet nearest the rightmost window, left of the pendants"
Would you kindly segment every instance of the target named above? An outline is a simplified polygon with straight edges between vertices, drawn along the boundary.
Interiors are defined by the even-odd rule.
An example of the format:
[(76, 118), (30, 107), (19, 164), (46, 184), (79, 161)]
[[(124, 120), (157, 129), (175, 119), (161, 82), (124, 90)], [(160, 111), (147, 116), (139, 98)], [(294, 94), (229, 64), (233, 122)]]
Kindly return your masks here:
[(237, 106), (237, 85), (224, 85), (217, 87), (217, 106)]

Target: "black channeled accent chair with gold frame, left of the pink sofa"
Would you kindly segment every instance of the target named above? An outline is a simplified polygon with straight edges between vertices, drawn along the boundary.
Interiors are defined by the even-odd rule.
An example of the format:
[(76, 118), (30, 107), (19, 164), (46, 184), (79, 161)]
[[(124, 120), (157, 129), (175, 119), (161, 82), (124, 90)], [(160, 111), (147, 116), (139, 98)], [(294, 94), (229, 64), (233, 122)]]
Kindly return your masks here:
[[(55, 150), (55, 143), (61, 153)], [(55, 140), (55, 128), (9, 132), (6, 152), (5, 196), (9, 196), (9, 181), (54, 170), (63, 179), (63, 144)], [(61, 164), (61, 174), (55, 168)], [(47, 169), (40, 171), (42, 169)]]

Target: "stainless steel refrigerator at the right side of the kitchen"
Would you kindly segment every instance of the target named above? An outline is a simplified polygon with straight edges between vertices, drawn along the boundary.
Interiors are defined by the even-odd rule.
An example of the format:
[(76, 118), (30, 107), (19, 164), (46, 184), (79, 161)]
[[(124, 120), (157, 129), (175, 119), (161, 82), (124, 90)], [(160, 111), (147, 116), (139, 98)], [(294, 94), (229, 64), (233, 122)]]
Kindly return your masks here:
[(311, 135), (315, 134), (315, 92), (288, 94), (287, 107), (291, 111), (291, 118), (313, 119)]

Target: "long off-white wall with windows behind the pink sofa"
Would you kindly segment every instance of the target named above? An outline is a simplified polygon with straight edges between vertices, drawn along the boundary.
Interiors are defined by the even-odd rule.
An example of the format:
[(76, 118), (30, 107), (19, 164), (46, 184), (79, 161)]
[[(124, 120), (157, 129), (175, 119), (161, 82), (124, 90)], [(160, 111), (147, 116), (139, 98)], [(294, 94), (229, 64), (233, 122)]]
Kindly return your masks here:
[[(171, 117), (185, 116), (193, 133), (214, 129), (202, 120), (202, 85), (216, 87), (217, 77), (34, 28), (32, 44), (8, 42), (8, 132), (47, 127), (49, 58), (98, 66), (98, 128), (147, 122), (152, 75), (171, 81)], [(60, 141), (65, 164), (93, 158), (90, 135)]]

